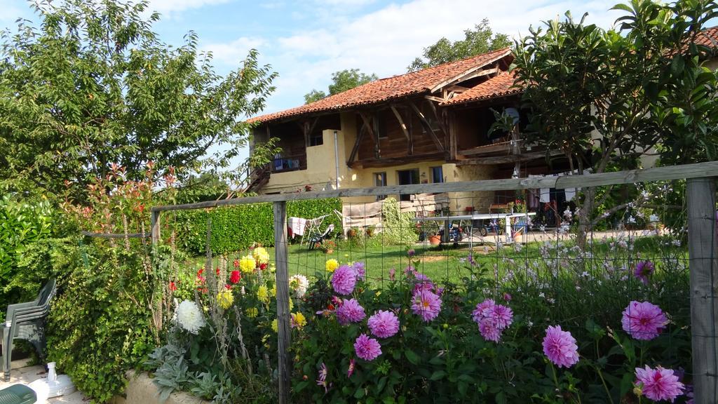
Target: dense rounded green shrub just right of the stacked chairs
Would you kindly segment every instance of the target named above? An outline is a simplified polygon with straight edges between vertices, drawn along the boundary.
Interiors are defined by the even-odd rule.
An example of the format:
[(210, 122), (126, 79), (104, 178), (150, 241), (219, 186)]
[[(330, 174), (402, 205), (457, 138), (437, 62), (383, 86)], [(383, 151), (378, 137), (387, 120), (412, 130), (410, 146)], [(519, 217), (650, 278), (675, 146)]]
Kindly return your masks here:
[(126, 385), (127, 369), (137, 367), (156, 345), (154, 293), (137, 249), (79, 246), (67, 240), (49, 252), (55, 260), (58, 294), (47, 322), (48, 359), (75, 385), (106, 403)]

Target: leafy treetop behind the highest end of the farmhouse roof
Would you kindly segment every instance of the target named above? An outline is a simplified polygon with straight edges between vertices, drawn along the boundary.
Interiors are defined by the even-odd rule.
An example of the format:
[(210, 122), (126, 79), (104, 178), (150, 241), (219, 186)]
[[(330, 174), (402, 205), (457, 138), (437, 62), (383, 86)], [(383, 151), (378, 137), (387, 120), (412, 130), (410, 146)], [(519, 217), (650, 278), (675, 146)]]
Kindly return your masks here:
[(430, 68), (511, 45), (508, 35), (494, 33), (486, 18), (476, 24), (474, 29), (466, 29), (464, 35), (463, 40), (454, 42), (442, 37), (434, 45), (425, 47), (422, 57), (414, 59), (408, 70), (413, 72)]

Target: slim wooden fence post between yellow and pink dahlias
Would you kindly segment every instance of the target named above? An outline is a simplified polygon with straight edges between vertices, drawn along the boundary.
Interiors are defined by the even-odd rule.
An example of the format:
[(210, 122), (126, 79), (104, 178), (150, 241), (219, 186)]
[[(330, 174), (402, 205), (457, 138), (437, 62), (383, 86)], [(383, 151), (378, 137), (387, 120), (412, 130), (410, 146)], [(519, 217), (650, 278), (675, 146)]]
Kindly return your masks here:
[(274, 202), (274, 261), (279, 334), (279, 404), (289, 403), (289, 265), (286, 252), (286, 202)]

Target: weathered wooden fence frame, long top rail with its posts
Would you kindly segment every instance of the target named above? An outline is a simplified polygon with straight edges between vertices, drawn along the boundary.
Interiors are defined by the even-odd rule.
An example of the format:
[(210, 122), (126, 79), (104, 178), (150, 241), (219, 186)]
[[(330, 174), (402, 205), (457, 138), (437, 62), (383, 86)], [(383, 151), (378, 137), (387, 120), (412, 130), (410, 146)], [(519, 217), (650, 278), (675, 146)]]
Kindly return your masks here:
[(456, 183), (396, 185), (373, 188), (337, 189), (317, 192), (282, 193), (154, 206), (151, 208), (152, 242), (160, 240), (160, 220), (164, 211), (182, 211), (248, 203), (274, 203), (274, 237), (277, 285), (277, 314), (279, 323), (279, 403), (289, 403), (291, 364), (289, 361), (289, 274), (286, 249), (286, 202), (318, 198), (378, 196), (418, 193), (466, 192), (477, 190), (523, 190), (536, 188), (586, 188), (628, 183), (645, 183), (687, 179), (689, 215), (689, 259), (691, 278), (691, 334), (693, 342), (693, 374), (695, 403), (718, 403), (718, 264), (716, 252), (715, 180), (718, 161), (701, 162), (645, 170), (616, 173), (566, 175), (561, 177), (479, 180)]

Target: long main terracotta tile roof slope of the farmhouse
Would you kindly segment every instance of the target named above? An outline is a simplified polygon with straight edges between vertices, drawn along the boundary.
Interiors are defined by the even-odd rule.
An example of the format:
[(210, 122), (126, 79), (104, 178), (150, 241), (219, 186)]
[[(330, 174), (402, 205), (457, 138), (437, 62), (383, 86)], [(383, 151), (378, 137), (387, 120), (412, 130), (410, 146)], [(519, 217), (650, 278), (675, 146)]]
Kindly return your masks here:
[(269, 122), (290, 116), (322, 111), (340, 111), (353, 106), (377, 104), (396, 98), (404, 98), (406, 96), (423, 93), (429, 88), (442, 83), (442, 81), (460, 75), (470, 68), (486, 65), (500, 58), (510, 57), (510, 54), (511, 50), (505, 48), (412, 73), (382, 78), (381, 80), (372, 81), (363, 86), (358, 86), (342, 93), (322, 98), (319, 101), (314, 101), (312, 104), (297, 106), (292, 109), (274, 112), (273, 114), (256, 116), (249, 119), (248, 122)]

